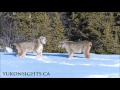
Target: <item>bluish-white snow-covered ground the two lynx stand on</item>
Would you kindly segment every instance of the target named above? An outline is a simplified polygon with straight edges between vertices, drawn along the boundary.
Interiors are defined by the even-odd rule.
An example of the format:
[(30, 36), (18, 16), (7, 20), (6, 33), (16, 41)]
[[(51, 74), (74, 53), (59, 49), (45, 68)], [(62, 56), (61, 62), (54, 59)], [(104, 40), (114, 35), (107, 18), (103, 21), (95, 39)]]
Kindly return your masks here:
[(43, 53), (38, 57), (27, 53), (0, 52), (0, 78), (120, 78), (120, 55)]

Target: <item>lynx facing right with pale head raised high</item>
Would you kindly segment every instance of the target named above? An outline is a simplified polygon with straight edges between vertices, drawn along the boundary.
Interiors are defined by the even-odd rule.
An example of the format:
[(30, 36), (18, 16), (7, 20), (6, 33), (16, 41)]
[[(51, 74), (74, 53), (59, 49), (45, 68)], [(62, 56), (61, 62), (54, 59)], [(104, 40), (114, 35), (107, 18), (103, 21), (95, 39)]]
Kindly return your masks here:
[(40, 36), (31, 42), (14, 43), (19, 57), (24, 57), (27, 52), (34, 52), (37, 56), (42, 56), (43, 44), (46, 44), (46, 37), (44, 36)]

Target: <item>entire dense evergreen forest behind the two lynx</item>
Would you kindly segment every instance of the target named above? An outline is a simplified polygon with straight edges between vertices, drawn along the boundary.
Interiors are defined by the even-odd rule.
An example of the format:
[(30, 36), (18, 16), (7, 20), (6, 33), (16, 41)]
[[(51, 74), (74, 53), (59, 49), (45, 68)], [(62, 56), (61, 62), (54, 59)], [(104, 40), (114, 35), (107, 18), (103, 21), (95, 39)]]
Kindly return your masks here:
[(120, 12), (0, 12), (0, 51), (45, 36), (44, 52), (65, 52), (61, 40), (89, 40), (91, 52), (120, 54)]

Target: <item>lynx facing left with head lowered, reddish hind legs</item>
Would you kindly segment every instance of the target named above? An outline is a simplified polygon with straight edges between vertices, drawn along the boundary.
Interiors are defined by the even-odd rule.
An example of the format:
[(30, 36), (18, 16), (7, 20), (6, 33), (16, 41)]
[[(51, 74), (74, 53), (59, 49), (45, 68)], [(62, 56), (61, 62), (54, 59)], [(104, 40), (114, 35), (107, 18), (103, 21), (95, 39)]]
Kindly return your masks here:
[(60, 48), (66, 49), (69, 54), (68, 58), (72, 58), (74, 53), (84, 53), (86, 58), (90, 58), (90, 49), (92, 46), (92, 42), (90, 41), (69, 41), (65, 39), (59, 43)]

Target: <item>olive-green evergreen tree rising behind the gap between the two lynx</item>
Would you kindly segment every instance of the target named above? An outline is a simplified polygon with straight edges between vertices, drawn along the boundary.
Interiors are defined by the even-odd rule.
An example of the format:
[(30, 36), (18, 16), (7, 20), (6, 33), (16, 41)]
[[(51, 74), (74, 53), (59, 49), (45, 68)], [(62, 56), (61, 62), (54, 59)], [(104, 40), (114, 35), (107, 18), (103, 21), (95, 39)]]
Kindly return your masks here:
[(51, 29), (46, 33), (47, 45), (45, 50), (47, 52), (64, 52), (64, 50), (58, 48), (59, 42), (65, 38), (60, 15), (58, 12), (48, 13), (48, 15), (51, 20)]

